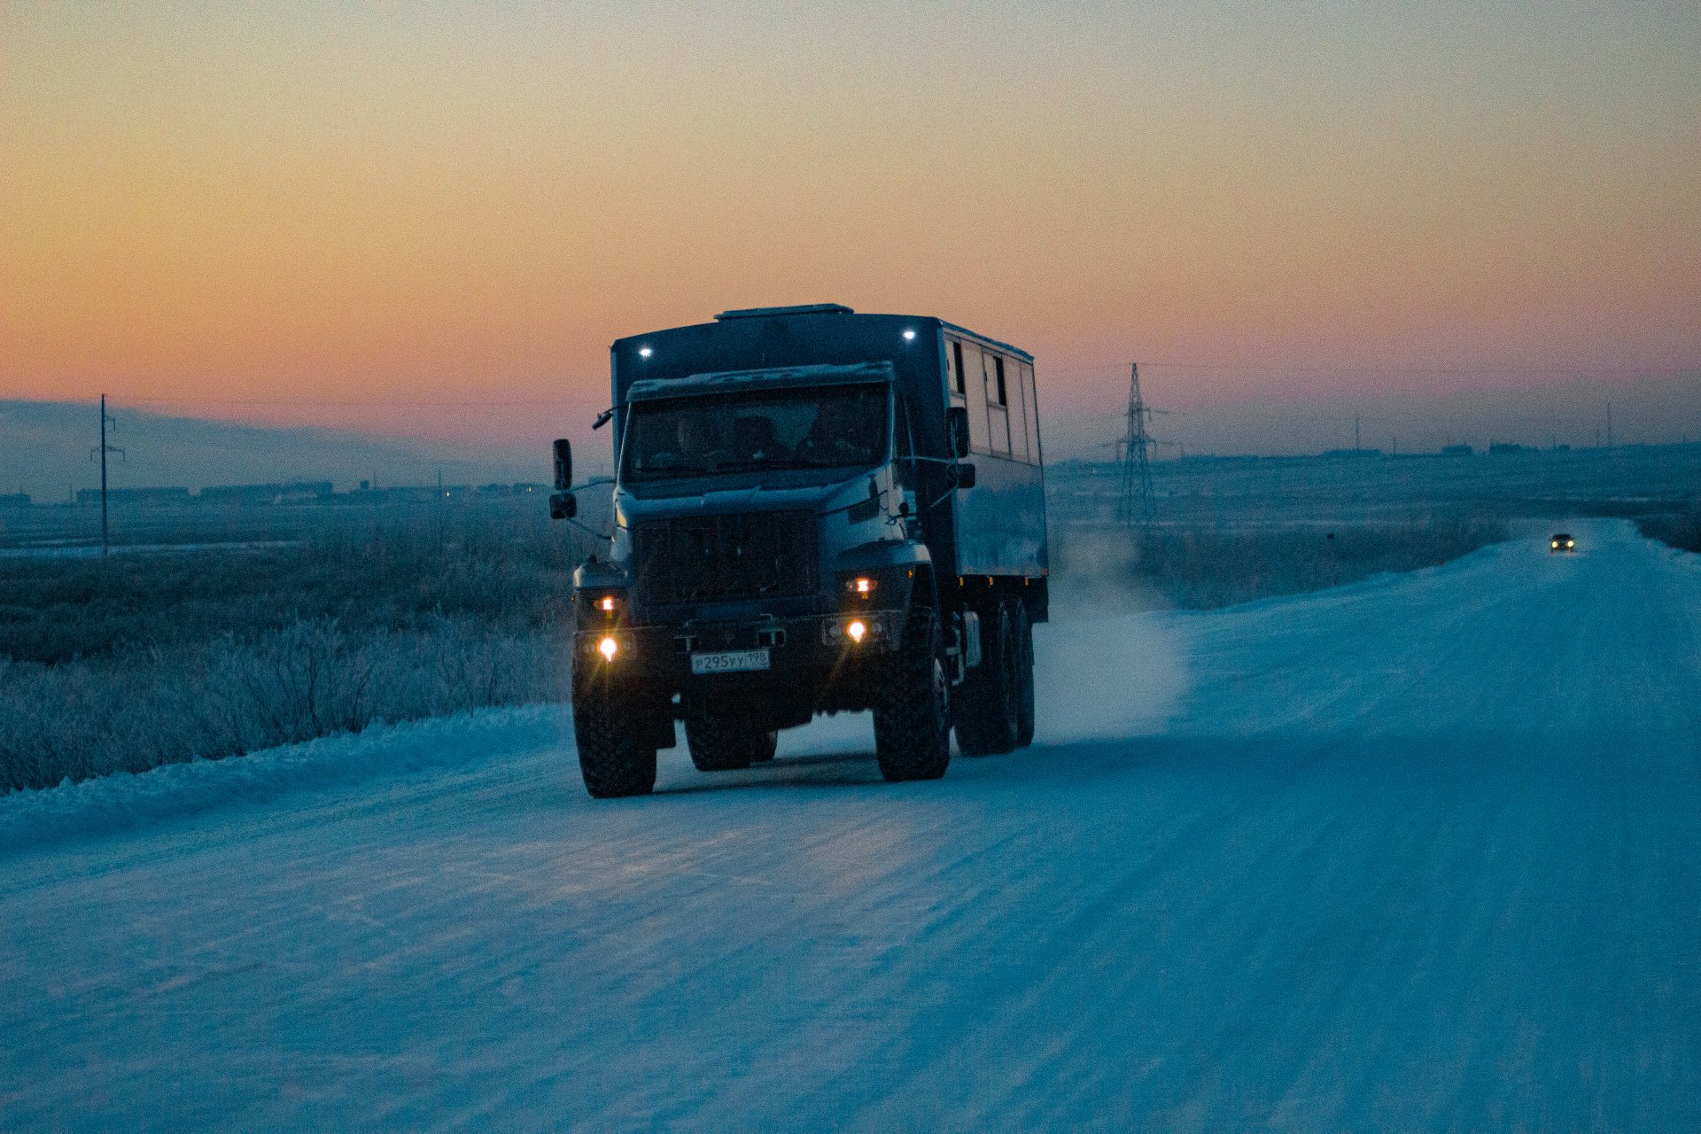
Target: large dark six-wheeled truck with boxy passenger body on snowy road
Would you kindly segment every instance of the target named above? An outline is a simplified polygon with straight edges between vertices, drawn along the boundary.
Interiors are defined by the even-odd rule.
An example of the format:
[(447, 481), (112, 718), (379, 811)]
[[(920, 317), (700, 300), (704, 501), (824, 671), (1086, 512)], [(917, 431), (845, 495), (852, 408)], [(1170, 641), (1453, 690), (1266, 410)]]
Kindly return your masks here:
[[(612, 349), (612, 530), (573, 575), (573, 733), (599, 799), (873, 711), (888, 780), (1034, 736), (1050, 617), (1034, 359), (937, 318), (723, 311)], [(578, 498), (555, 442), (551, 515)], [(580, 488), (578, 491), (589, 491)], [(600, 534), (599, 534), (600, 536)]]

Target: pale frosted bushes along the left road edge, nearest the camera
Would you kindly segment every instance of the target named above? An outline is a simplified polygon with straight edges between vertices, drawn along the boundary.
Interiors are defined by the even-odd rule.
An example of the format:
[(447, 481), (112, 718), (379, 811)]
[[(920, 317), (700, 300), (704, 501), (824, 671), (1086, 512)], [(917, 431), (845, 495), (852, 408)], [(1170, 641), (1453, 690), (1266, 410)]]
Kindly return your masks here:
[(568, 656), (556, 629), (512, 632), (459, 615), (403, 631), (316, 619), (53, 666), (0, 658), (0, 789), (558, 700)]

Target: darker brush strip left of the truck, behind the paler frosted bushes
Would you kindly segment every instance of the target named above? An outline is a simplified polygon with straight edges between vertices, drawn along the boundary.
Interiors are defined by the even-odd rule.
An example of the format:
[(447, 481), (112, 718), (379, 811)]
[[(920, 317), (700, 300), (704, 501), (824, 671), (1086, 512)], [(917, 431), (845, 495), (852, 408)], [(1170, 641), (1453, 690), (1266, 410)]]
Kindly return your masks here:
[(58, 663), (315, 619), (388, 631), (469, 615), (539, 629), (566, 615), (589, 549), (541, 505), (468, 505), (327, 510), (286, 547), (0, 559), (0, 655)]

